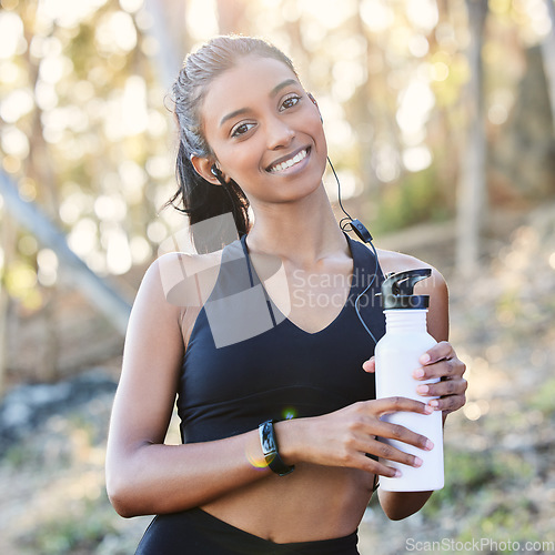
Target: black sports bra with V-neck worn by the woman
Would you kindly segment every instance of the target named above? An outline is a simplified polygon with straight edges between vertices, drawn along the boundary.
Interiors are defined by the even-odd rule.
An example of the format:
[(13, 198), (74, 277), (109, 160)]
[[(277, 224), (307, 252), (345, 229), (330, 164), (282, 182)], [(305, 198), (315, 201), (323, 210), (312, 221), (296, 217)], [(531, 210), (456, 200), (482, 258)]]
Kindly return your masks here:
[[(178, 412), (183, 442), (241, 434), (266, 420), (317, 416), (375, 398), (374, 354), (385, 321), (375, 293), (383, 274), (371, 250), (345, 234), (353, 256), (347, 301), (323, 330), (301, 330), (268, 296), (251, 263), (246, 235), (228, 245), (214, 289), (194, 323), (183, 360)], [(279, 273), (279, 272), (278, 272)]]

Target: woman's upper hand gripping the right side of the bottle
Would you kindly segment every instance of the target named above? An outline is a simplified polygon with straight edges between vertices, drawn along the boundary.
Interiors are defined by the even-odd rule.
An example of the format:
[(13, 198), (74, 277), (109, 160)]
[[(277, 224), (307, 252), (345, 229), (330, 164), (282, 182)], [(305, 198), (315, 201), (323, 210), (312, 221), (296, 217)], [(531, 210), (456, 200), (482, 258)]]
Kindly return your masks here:
[[(425, 382), (434, 377), (440, 379), (437, 383), (416, 386), (418, 395), (438, 397), (431, 400), (428, 405), (436, 411), (443, 411), (446, 415), (466, 403), (465, 392), (468, 384), (463, 377), (466, 365), (458, 360), (451, 343), (447, 341), (437, 343), (420, 357), (420, 363), (422, 366), (413, 372), (415, 380)], [(366, 361), (362, 367), (366, 372), (375, 372), (374, 357)]]

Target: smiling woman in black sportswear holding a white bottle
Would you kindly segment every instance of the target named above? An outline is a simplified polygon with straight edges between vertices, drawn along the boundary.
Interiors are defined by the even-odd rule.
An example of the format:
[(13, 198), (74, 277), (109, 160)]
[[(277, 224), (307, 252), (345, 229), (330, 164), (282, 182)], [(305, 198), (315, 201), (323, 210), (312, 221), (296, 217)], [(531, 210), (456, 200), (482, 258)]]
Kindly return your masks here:
[[(337, 225), (322, 183), (322, 119), (291, 61), (261, 40), (216, 38), (188, 57), (174, 101), (173, 200), (182, 198), (196, 244), (225, 213), (240, 240), (164, 255), (145, 274), (110, 428), (112, 504), (127, 517), (158, 515), (141, 554), (356, 554), (375, 478), (395, 475), (386, 462), (422, 464), (377, 436), (433, 448), (380, 417), (445, 417), (465, 402), (445, 282), (434, 271), (418, 285), (440, 343), (416, 375), (442, 380), (418, 389), (422, 403), (376, 401), (375, 342), (356, 310), (379, 339), (384, 273), (424, 264), (386, 251), (376, 259)], [(164, 445), (176, 395), (184, 444)], [(379, 491), (393, 519), (430, 494)]]

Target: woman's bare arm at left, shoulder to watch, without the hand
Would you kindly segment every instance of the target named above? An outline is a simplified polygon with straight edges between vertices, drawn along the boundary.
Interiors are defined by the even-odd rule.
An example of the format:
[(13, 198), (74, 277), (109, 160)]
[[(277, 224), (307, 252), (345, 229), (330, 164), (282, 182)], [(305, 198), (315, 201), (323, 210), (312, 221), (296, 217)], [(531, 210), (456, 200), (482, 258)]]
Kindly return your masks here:
[(155, 262), (131, 313), (107, 453), (107, 490), (122, 516), (183, 511), (261, 480), (258, 432), (164, 445), (183, 361), (181, 310), (169, 303)]

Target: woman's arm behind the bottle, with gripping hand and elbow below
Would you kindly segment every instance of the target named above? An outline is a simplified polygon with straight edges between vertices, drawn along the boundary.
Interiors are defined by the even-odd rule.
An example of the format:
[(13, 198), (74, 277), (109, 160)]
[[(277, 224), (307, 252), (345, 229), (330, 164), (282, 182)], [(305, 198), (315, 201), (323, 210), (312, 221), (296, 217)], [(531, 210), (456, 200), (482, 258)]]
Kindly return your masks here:
[[(422, 265), (422, 264), (420, 264)], [(428, 283), (426, 283), (428, 282)], [(430, 310), (427, 315), (428, 333), (438, 342), (421, 359), (423, 375), (418, 380), (441, 377), (441, 382), (430, 385), (421, 394), (425, 396), (440, 396), (437, 401), (430, 402), (434, 410), (443, 411), (443, 423), (448, 412), (458, 410), (465, 403), (464, 392), (466, 381), (462, 377), (465, 365), (447, 343), (448, 340), (448, 292), (443, 276), (433, 271), (432, 278), (416, 285), (418, 294), (430, 295)], [(367, 372), (374, 371), (374, 361), (364, 364)], [(420, 511), (433, 492), (384, 492), (379, 490), (380, 504), (384, 513), (393, 521), (406, 518)]]

